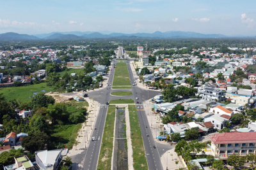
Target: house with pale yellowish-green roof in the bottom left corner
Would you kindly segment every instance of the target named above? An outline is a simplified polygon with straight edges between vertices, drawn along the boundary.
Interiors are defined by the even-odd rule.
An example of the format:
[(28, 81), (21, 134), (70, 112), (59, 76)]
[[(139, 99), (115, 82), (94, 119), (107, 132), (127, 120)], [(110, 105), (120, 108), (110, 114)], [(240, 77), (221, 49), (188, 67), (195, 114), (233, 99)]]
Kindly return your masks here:
[(11, 164), (8, 166), (4, 166), (4, 169), (6, 170), (21, 170), (21, 169), (26, 169), (26, 170), (37, 170), (39, 169), (36, 166), (33, 165), (31, 160), (28, 159), (26, 155), (23, 155), (21, 157), (14, 157), (15, 164)]

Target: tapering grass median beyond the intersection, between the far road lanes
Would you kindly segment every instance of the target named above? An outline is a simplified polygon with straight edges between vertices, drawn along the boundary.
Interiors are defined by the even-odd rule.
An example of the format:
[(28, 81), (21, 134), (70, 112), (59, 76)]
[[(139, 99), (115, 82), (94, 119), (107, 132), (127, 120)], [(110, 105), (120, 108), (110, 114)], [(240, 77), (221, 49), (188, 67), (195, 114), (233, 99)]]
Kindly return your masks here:
[(131, 85), (127, 64), (125, 62), (116, 63), (113, 86)]

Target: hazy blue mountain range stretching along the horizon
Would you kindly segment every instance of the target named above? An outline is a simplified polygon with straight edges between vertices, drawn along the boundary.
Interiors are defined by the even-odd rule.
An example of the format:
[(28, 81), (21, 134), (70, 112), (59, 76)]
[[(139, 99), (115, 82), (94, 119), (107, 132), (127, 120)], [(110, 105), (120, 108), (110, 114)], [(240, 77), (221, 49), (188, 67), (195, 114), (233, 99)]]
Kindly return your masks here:
[(124, 34), (113, 32), (110, 34), (104, 34), (100, 32), (51, 32), (48, 34), (18, 34), (15, 32), (7, 32), (0, 34), (0, 41), (7, 40), (78, 40), (78, 39), (94, 39), (94, 38), (119, 38), (119, 39), (135, 39), (135, 38), (147, 38), (147, 39), (180, 39), (180, 38), (227, 38), (223, 34), (201, 34), (198, 32), (184, 32), (184, 31), (168, 31), (153, 33), (134, 33)]

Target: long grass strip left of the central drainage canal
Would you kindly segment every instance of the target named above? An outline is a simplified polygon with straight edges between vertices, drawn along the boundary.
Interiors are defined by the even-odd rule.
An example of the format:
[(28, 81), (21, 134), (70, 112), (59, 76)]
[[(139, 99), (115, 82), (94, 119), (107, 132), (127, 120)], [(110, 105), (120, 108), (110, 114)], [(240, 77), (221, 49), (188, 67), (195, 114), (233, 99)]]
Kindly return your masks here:
[(115, 125), (116, 106), (108, 106), (108, 115), (104, 127), (102, 145), (100, 148), (99, 163), (97, 169), (111, 169), (111, 157), (113, 152), (113, 137)]

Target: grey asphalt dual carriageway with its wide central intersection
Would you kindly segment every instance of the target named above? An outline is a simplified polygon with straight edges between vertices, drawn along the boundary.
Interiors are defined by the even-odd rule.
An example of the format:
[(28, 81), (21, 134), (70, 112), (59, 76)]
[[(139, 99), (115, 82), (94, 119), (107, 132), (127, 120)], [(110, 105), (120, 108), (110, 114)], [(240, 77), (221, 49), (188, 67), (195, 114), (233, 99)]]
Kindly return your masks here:
[[(114, 64), (119, 61), (114, 61)], [(129, 64), (130, 60), (124, 60), (124, 62), (127, 62), (127, 66), (129, 69), (129, 76), (130, 80), (133, 83), (134, 77), (132, 74), (131, 66)], [(113, 83), (113, 76), (115, 73), (115, 68), (113, 65), (110, 66), (112, 71), (108, 74), (109, 80), (108, 83)], [(111, 96), (111, 92), (115, 91), (129, 91), (133, 94), (131, 96), (124, 96), (124, 97), (116, 97)], [(152, 132), (150, 131), (150, 124), (147, 120), (147, 113), (148, 111), (145, 111), (143, 108), (143, 102), (147, 99), (150, 99), (157, 94), (161, 94), (159, 91), (155, 90), (145, 90), (140, 89), (140, 87), (132, 86), (131, 89), (111, 89), (111, 86), (106, 87), (101, 90), (97, 91), (91, 91), (88, 92), (88, 96), (92, 97), (93, 100), (98, 101), (100, 104), (100, 110), (99, 115), (97, 117), (97, 120), (95, 122), (96, 130), (93, 130), (92, 138), (94, 137), (95, 141), (92, 141), (92, 138), (90, 136), (88, 137), (88, 140), (90, 141), (89, 146), (86, 150), (81, 152), (79, 155), (76, 155), (72, 157), (72, 160), (74, 162), (77, 162), (79, 164), (83, 165), (84, 170), (95, 170), (97, 169), (97, 164), (99, 160), (99, 153), (100, 153), (100, 146), (102, 143), (102, 136), (104, 132), (104, 125), (106, 121), (106, 115), (108, 111), (108, 106), (106, 105), (107, 102), (113, 100), (113, 99), (133, 99), (134, 101), (138, 101), (140, 104), (136, 104), (136, 108), (138, 110), (138, 118), (140, 121), (140, 128), (141, 128), (141, 134), (143, 138), (143, 144), (145, 147), (145, 156), (147, 157), (148, 162), (148, 169), (163, 169), (163, 166), (161, 164), (160, 156), (163, 155), (166, 150), (170, 150), (172, 146), (170, 145), (163, 145), (160, 143), (156, 143), (154, 141), (154, 138), (152, 137)], [(136, 97), (138, 97), (138, 100), (136, 100)], [(92, 129), (94, 129), (92, 125)], [(149, 136), (147, 136), (147, 134)], [(156, 146), (156, 148), (154, 148)], [(85, 155), (85, 156), (84, 156)]]

